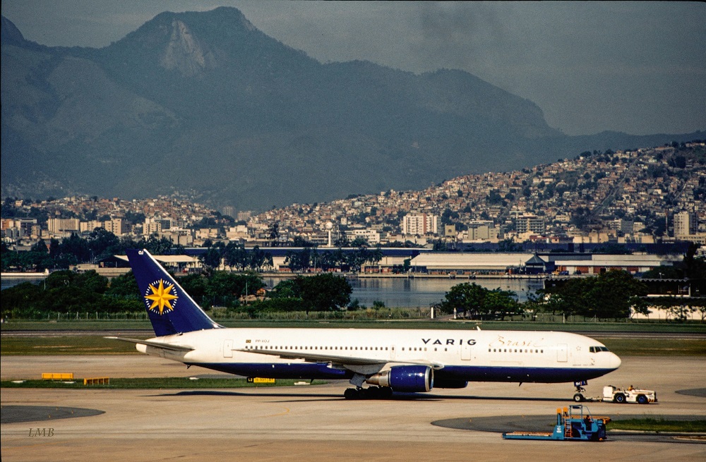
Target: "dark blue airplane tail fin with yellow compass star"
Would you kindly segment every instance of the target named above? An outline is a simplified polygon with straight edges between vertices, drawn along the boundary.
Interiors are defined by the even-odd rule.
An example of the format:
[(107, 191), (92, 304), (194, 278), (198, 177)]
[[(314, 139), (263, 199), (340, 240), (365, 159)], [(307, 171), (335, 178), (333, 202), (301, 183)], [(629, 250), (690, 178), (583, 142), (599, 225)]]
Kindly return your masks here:
[(220, 329), (147, 250), (126, 250), (157, 336)]

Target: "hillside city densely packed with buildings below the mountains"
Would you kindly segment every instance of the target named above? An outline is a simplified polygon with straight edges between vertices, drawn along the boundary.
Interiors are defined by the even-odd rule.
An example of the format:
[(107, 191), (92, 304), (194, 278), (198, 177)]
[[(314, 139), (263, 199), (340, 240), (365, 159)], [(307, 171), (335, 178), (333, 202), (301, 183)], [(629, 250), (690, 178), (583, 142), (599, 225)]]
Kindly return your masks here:
[(6, 198), (8, 248), (104, 228), (186, 247), (245, 245), (402, 246), (444, 243), (706, 244), (706, 142), (582, 152), (512, 172), (472, 174), (424, 190), (388, 190), (255, 214), (221, 212), (174, 194), (122, 200)]

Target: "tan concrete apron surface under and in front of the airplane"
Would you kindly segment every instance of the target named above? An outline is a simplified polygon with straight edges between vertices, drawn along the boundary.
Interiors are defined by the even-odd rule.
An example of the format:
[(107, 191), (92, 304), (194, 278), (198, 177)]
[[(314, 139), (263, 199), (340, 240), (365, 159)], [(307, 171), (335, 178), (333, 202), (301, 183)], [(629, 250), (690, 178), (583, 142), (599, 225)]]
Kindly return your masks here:
[[(592, 413), (706, 418), (702, 357), (623, 357), (623, 365), (593, 380), (656, 389), (659, 403), (587, 403)], [(42, 372), (76, 377), (189, 377), (216, 372), (143, 355), (0, 357), (2, 379)], [(346, 401), (345, 382), (323, 386), (219, 390), (2, 389), (2, 406), (84, 408), (97, 415), (3, 423), (7, 461), (705, 461), (706, 444), (671, 437), (607, 442), (506, 441), (499, 432), (432, 425), (443, 420), (554, 420), (573, 403), (571, 384), (472, 383), (387, 401)], [(499, 418), (499, 420), (498, 420)], [(503, 430), (498, 425), (495, 430)], [(41, 429), (52, 429), (51, 432)], [(487, 429), (486, 429), (487, 430)], [(492, 428), (489, 430), (493, 430)], [(51, 433), (51, 436), (47, 436)], [(37, 435), (38, 434), (38, 435)], [(610, 435), (609, 435), (610, 437)]]

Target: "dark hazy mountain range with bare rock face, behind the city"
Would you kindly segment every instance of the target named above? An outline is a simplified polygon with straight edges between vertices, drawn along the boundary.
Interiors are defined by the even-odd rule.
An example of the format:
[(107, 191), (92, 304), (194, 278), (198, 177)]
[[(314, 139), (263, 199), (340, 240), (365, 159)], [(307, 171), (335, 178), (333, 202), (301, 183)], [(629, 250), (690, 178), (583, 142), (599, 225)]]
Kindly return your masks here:
[(101, 49), (30, 42), (3, 17), (1, 51), (2, 197), (258, 210), (702, 138), (563, 135), (470, 73), (321, 63), (236, 8), (160, 13)]

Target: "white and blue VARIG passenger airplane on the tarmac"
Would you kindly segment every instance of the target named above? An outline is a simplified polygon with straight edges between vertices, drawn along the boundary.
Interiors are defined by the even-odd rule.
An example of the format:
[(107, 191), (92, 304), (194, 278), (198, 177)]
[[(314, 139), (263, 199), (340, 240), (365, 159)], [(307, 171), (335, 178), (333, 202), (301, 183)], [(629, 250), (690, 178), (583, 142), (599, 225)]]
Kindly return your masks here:
[[(621, 365), (598, 341), (567, 332), (436, 329), (227, 329), (208, 317), (147, 250), (128, 260), (156, 337), (138, 351), (246, 377), (349, 379), (345, 398), (464, 388), (477, 382), (582, 384)], [(363, 388), (364, 384), (371, 387)]]

